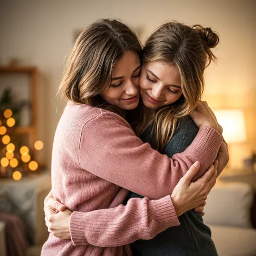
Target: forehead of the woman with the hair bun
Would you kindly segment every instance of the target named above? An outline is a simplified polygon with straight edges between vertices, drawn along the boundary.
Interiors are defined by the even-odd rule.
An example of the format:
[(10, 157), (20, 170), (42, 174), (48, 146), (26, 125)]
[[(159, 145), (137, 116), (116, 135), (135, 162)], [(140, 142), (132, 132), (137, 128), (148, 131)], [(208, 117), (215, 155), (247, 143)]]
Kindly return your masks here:
[(181, 76), (178, 68), (161, 61), (152, 61), (145, 64), (145, 68), (153, 72), (166, 85), (181, 85)]

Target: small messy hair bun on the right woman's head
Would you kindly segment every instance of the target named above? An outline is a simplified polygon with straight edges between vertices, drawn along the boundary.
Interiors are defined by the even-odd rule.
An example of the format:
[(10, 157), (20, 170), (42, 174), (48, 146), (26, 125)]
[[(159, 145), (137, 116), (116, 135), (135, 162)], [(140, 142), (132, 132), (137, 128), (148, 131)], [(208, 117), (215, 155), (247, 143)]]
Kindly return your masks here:
[(219, 43), (219, 36), (211, 28), (203, 28), (201, 25), (194, 25), (196, 29), (208, 48), (214, 48)]

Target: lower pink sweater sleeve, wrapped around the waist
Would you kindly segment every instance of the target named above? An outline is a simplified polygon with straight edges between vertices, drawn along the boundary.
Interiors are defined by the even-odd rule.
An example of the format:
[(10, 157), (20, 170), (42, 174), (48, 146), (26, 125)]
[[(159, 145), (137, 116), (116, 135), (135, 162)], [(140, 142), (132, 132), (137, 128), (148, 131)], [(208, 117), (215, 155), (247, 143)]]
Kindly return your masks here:
[[(131, 224), (132, 223), (132, 224)], [(179, 222), (171, 197), (159, 200), (130, 199), (126, 206), (73, 212), (70, 221), (74, 245), (112, 247), (130, 244), (138, 239), (152, 239)]]

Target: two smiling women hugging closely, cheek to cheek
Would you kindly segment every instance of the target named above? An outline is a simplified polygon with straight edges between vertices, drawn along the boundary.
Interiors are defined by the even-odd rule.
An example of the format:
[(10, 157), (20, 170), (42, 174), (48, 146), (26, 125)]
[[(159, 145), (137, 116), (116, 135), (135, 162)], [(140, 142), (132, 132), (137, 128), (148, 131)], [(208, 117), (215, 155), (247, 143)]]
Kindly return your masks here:
[(201, 96), (218, 42), (178, 22), (144, 47), (117, 20), (82, 31), (59, 86), (42, 256), (217, 255), (202, 215), (228, 150)]

